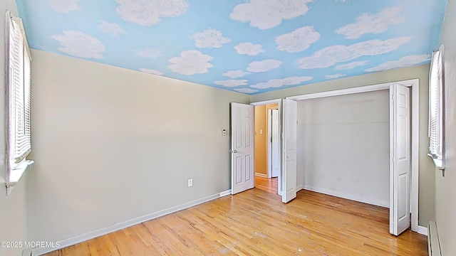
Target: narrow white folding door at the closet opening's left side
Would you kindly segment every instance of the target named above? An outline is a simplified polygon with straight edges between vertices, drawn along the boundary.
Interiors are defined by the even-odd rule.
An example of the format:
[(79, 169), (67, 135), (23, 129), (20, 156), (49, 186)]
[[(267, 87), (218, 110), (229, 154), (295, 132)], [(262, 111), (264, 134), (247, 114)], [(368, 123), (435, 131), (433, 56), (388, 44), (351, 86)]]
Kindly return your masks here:
[(298, 122), (298, 102), (284, 100), (284, 161), (282, 202), (296, 198), (296, 130)]

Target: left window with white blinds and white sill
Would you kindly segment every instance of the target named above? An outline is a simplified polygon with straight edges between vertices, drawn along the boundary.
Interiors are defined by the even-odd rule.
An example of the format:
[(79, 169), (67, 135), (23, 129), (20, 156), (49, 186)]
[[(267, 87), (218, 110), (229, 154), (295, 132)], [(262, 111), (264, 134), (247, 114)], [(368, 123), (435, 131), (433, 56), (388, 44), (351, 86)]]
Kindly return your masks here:
[[(16, 183), (31, 152), (31, 55), (22, 21), (6, 11), (6, 164), (7, 185)], [(20, 172), (20, 174), (18, 174)], [(19, 176), (19, 178), (18, 178)]]

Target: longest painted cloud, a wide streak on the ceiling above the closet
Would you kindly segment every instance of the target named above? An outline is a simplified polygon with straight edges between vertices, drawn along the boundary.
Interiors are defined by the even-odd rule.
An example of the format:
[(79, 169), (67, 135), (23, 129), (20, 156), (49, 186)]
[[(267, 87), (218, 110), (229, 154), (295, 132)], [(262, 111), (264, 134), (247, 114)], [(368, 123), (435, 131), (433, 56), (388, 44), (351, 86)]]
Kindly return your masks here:
[(391, 38), (385, 41), (378, 39), (355, 43), (351, 46), (328, 46), (316, 51), (309, 57), (298, 60), (299, 68), (328, 68), (336, 63), (354, 60), (361, 56), (374, 56), (397, 50), (399, 46), (410, 41), (410, 37)]

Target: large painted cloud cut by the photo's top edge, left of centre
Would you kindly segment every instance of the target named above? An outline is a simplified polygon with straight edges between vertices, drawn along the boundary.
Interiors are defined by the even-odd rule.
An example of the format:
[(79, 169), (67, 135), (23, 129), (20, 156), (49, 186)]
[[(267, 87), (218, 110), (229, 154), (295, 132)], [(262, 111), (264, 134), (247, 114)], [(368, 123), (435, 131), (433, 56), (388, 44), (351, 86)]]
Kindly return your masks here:
[[(58, 1), (58, 0), (56, 0)], [(175, 17), (185, 14), (187, 0), (115, 0), (121, 18), (140, 26), (151, 26), (160, 17)]]

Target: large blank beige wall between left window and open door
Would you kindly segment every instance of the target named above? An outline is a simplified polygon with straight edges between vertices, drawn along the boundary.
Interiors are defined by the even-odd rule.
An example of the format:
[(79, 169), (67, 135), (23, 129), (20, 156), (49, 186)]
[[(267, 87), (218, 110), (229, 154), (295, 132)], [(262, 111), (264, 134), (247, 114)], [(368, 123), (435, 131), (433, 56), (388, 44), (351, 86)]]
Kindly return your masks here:
[(248, 95), (32, 55), (31, 240), (72, 238), (230, 188), (222, 129), (229, 102)]

